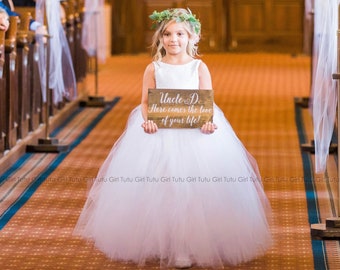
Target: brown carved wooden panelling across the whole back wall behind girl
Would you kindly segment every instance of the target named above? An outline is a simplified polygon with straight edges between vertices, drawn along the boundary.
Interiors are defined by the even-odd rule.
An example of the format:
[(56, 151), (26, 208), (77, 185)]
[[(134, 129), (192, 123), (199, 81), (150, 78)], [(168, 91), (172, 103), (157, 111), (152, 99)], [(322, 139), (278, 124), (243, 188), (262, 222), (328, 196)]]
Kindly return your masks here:
[(154, 10), (189, 7), (202, 22), (200, 52), (301, 52), (304, 0), (113, 0), (112, 53), (146, 52)]

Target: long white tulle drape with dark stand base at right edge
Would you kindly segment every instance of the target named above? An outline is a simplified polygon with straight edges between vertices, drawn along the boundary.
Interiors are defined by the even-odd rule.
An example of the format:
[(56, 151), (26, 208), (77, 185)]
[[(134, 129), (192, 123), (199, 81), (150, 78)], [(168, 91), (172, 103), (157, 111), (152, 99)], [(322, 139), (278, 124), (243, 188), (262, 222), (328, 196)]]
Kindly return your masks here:
[[(336, 8), (337, 7), (337, 8)], [(322, 0), (315, 2), (315, 15), (322, 20), (316, 20), (321, 26), (317, 30), (318, 42), (315, 67), (313, 73), (313, 117), (315, 139), (316, 172), (325, 172), (327, 157), (330, 154), (329, 145), (337, 127), (337, 142), (340, 141), (340, 4), (332, 0), (330, 5), (323, 5)], [(322, 33), (322, 34), (320, 34)], [(320, 35), (319, 35), (320, 34)], [(322, 38), (320, 38), (322, 36)], [(326, 112), (326, 113), (322, 113)], [(319, 114), (319, 115), (316, 115)], [(320, 149), (318, 150), (319, 147)], [(325, 223), (311, 224), (311, 236), (315, 240), (340, 240), (340, 149), (337, 147), (338, 170), (338, 205), (333, 217), (326, 218)]]

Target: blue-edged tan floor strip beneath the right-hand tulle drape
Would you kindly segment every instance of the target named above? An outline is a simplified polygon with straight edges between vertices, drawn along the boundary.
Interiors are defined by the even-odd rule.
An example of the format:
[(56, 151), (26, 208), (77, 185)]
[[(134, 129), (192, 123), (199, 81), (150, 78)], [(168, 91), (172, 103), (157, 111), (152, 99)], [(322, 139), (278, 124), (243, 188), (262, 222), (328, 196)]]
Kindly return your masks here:
[[(311, 145), (313, 140), (313, 123), (309, 109), (303, 108), (295, 99), (295, 121), (300, 144)], [(333, 142), (336, 143), (336, 138)], [(330, 154), (325, 173), (316, 174), (314, 154), (301, 151), (308, 219), (310, 224), (325, 223), (326, 218), (337, 213), (337, 155)], [(312, 239), (314, 265), (316, 270), (339, 269), (339, 241)]]

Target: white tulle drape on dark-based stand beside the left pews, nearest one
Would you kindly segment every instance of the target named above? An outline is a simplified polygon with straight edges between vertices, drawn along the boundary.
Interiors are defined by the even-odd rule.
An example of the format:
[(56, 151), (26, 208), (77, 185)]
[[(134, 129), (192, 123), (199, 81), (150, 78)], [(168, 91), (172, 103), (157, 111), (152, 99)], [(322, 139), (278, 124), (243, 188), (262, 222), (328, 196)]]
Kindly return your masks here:
[[(72, 2), (73, 7), (73, 2)], [(53, 0), (38, 0), (36, 2), (36, 20), (41, 25), (48, 26), (50, 35), (36, 35), (39, 43), (40, 79), (43, 82), (42, 96), (45, 102), (45, 137), (38, 139), (37, 145), (28, 145), (27, 152), (65, 152), (67, 145), (60, 145), (58, 139), (51, 138), (49, 125), (50, 102), (57, 104), (73, 100), (77, 96), (76, 80), (71, 56), (70, 43), (61, 22), (60, 3)], [(72, 8), (73, 11), (73, 8)], [(44, 91), (45, 89), (45, 91)], [(51, 90), (53, 95), (51, 95)]]

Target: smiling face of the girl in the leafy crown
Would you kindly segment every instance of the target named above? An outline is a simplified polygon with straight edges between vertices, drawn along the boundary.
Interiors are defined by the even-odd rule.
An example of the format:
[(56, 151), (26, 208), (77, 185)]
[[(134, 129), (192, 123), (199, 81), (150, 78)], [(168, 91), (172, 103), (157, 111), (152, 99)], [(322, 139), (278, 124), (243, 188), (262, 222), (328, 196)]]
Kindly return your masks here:
[(189, 35), (184, 23), (171, 22), (163, 32), (163, 47), (167, 54), (186, 54)]

